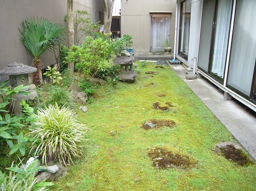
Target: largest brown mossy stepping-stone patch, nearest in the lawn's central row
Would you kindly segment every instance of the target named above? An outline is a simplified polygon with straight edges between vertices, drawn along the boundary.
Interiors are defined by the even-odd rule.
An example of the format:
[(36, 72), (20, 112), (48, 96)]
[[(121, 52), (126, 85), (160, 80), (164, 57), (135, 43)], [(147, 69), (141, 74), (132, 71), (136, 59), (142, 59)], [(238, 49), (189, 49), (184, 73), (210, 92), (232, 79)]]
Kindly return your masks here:
[(148, 148), (147, 151), (147, 155), (153, 160), (153, 166), (160, 169), (192, 168), (197, 164), (195, 159), (164, 147)]

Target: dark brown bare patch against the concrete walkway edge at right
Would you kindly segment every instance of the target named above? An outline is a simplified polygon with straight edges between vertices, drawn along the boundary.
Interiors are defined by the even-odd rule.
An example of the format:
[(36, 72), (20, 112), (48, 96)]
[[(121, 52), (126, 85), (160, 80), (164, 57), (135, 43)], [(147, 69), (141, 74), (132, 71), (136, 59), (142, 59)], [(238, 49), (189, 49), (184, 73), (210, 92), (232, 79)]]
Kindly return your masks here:
[(225, 147), (216, 147), (216, 152), (230, 160), (231, 162), (241, 165), (241, 166), (249, 166), (254, 165), (255, 162), (250, 160), (250, 157), (242, 151), (242, 149), (237, 149), (233, 145), (227, 145)]

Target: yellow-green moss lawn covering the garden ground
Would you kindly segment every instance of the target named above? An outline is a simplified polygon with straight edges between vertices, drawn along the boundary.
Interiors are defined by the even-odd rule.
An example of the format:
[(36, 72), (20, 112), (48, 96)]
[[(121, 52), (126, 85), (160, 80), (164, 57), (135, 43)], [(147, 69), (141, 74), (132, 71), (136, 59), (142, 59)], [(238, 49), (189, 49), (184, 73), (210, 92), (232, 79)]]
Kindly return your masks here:
[[(88, 112), (79, 112), (78, 119), (91, 129), (89, 146), (51, 190), (256, 190), (255, 165), (235, 165), (215, 152), (215, 144), (232, 135), (183, 80), (169, 66), (138, 68), (133, 84), (100, 87)], [(141, 78), (146, 71), (158, 73)], [(173, 107), (153, 109), (156, 102)], [(176, 125), (145, 130), (141, 126), (147, 119), (170, 119)], [(153, 147), (169, 148), (196, 164), (157, 169), (148, 156)]]

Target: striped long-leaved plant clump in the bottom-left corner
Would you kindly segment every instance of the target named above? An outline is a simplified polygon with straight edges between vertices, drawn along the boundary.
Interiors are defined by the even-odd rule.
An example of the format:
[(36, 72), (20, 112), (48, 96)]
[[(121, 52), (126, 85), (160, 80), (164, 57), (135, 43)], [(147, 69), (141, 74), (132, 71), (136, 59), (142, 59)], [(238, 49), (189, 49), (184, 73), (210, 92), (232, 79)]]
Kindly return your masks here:
[[(21, 164), (21, 163), (20, 163)], [(19, 165), (20, 165), (19, 164)], [(37, 178), (35, 178), (35, 171), (41, 167), (35, 167), (36, 161), (31, 163), (26, 170), (19, 167), (14, 167), (13, 163), (11, 167), (7, 168), (10, 170), (9, 175), (3, 174), (0, 171), (0, 190), (1, 191), (46, 191), (46, 186), (52, 186), (54, 184), (49, 182), (37, 183)]]

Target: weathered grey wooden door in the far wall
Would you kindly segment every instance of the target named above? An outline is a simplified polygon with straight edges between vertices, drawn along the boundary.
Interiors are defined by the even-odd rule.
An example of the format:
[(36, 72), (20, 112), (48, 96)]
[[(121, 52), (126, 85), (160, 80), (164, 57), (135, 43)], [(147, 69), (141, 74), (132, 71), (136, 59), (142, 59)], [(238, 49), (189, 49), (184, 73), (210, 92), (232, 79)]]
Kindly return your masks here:
[[(170, 13), (151, 13), (151, 52), (165, 52), (167, 39), (170, 44)], [(170, 46), (170, 45), (169, 45)]]

